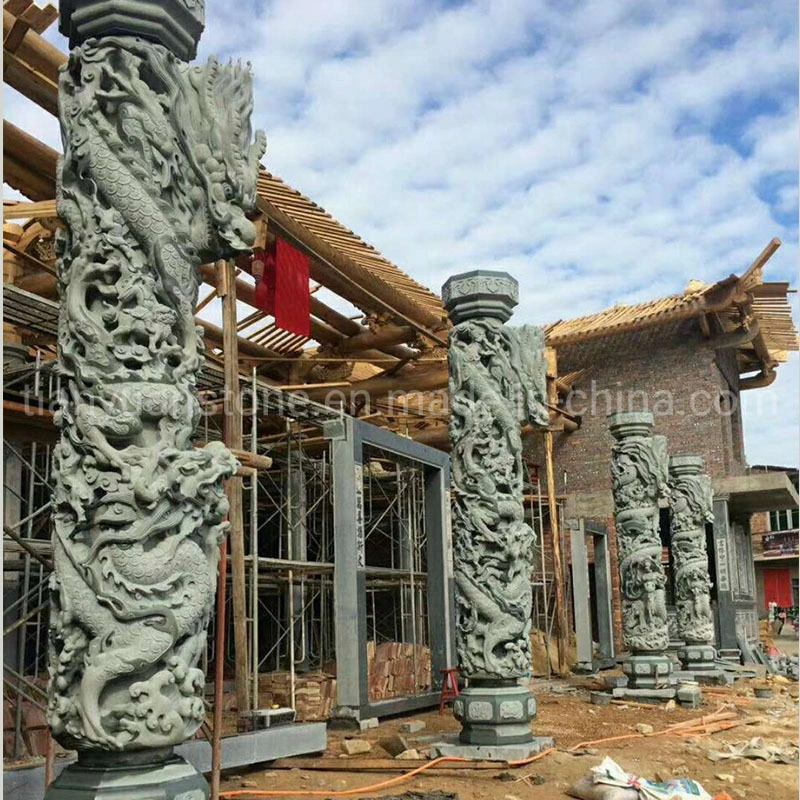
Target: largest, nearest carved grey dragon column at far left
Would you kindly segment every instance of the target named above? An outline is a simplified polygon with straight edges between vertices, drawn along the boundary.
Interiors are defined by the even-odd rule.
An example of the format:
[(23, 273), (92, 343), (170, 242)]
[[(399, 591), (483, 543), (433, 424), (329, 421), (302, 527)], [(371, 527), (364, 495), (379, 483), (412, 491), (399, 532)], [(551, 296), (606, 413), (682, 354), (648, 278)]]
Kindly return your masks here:
[(237, 467), (220, 443), (192, 446), (196, 267), (252, 245), (263, 134), (251, 141), (249, 67), (187, 63), (202, 0), (62, 0), (60, 30), (48, 720), (79, 760), (47, 796), (197, 800), (205, 781), (172, 748), (205, 716)]

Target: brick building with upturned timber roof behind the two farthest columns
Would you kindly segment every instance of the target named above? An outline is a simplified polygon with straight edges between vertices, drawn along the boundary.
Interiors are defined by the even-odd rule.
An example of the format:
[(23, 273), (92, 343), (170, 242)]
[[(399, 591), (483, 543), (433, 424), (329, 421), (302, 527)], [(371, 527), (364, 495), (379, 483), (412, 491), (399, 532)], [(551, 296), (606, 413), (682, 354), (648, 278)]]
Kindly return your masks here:
[[(559, 376), (558, 404), (572, 415), (567, 418), (571, 424), (554, 442), (556, 491), (563, 498), (565, 520), (605, 525), (612, 532), (609, 544), (615, 552), (607, 415), (653, 412), (654, 432), (666, 436), (670, 454), (702, 456), (713, 481), (714, 523), (708, 526), (712, 602), (717, 647), (730, 651), (747, 650), (759, 637), (763, 604), (758, 599), (751, 516), (773, 512), (774, 524), (781, 529), (796, 523), (792, 509), (796, 513), (797, 470), (793, 483), (787, 474), (791, 470), (754, 471), (745, 461), (741, 392), (772, 383), (778, 363), (786, 360), (788, 350), (797, 349), (786, 301), (788, 285), (765, 283), (762, 265), (757, 261), (741, 277), (731, 275), (712, 286), (693, 283), (682, 295), (616, 306), (547, 330), (547, 344), (554, 351), (551, 363)], [(544, 463), (536, 440), (531, 440), (530, 458)], [(796, 553), (797, 525), (793, 527)], [(776, 538), (765, 540), (768, 547), (788, 546), (779, 544), (786, 538), (779, 538), (784, 530), (773, 533)], [(670, 576), (666, 508), (662, 539)], [(787, 578), (787, 591), (792, 577), (796, 591), (796, 563), (792, 570), (782, 561), (781, 569), (786, 570), (781, 575)], [(619, 632), (616, 568), (611, 581)], [(677, 645), (674, 614), (671, 635)]]

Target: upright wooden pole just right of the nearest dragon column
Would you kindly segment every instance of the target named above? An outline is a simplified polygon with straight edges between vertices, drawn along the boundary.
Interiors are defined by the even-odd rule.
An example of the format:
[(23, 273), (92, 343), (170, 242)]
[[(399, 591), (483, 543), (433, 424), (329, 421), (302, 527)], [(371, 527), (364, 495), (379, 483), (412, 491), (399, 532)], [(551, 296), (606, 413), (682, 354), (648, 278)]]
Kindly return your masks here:
[[(242, 449), (242, 408), (239, 401), (239, 342), (236, 333), (236, 274), (233, 262), (217, 262), (220, 271), (218, 293), (222, 297), (222, 347), (225, 371), (223, 440), (233, 450)], [(236, 661), (234, 687), (239, 714), (249, 710), (247, 658), (247, 606), (244, 563), (244, 514), (242, 512), (242, 479), (227, 483), (230, 511), (228, 521), (231, 554), (231, 597), (233, 604), (233, 647)]]

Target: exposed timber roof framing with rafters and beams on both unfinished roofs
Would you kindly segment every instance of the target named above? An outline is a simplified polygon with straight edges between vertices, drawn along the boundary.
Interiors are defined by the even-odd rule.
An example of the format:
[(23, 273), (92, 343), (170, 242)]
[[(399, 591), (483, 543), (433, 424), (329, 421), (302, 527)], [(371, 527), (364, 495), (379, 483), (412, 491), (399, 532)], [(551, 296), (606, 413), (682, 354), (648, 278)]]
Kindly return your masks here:
[[(40, 8), (33, 0), (5, 0), (3, 6), (4, 80), (52, 114), (58, 110), (58, 70), (67, 56), (45, 41), (41, 33), (56, 17), (52, 5)], [(52, 267), (39, 261), (37, 270), (37, 259), (25, 247), (35, 242), (40, 233), (52, 233), (60, 225), (52, 199), (58, 153), (6, 120), (3, 130), (6, 181), (33, 201), (3, 203), (6, 219), (27, 220), (21, 236), (4, 235), (4, 245), (8, 244), (5, 249), (28, 270), (19, 280), (17, 291), (11, 293), (8, 307), (9, 317), (24, 323), (25, 315), (17, 303), (20, 297), (55, 296)], [(326, 387), (350, 386), (352, 390), (367, 391), (370, 397), (374, 394), (376, 402), (385, 396), (388, 386), (413, 387), (423, 394), (446, 386), (443, 353), (449, 323), (436, 293), (310, 198), (263, 168), (258, 176), (257, 207), (262, 214), (258, 243), (266, 244), (279, 235), (304, 250), (310, 257), (316, 288), (325, 287), (347, 300), (363, 312), (368, 324), (326, 306), (313, 295), (314, 290), (309, 338), (287, 334), (265, 315), (247, 314), (243, 319), (237, 318), (236, 323), (242, 372), (249, 372), (254, 366), (261, 371), (291, 361), (297, 370), (293, 367), (289, 374), (298, 377), (290, 379), (289, 386), (308, 385), (312, 397)], [(773, 239), (741, 276), (730, 275), (710, 286), (690, 286), (681, 294), (617, 305), (546, 325), (548, 348), (557, 351), (562, 346), (617, 333), (698, 319), (707, 338), (752, 333), (737, 345), (740, 372), (760, 370), (765, 378), (774, 377), (775, 366), (786, 360), (788, 351), (798, 349), (797, 330), (787, 300), (792, 290), (786, 283), (763, 279), (763, 267), (779, 245)], [(24, 252), (16, 252), (19, 249)], [(212, 291), (200, 302), (198, 310), (220, 296), (219, 266), (204, 265), (200, 271)], [(253, 285), (244, 278), (235, 279), (235, 283), (237, 299), (253, 306)], [(213, 371), (218, 360), (213, 350), (222, 343), (222, 329), (205, 320), (198, 322), (211, 345), (209, 364)], [(310, 341), (318, 342), (319, 348), (306, 348)], [(334, 371), (338, 366), (349, 365), (348, 377), (315, 382), (310, 376), (315, 365), (335, 365), (331, 367)], [(555, 370), (550, 379), (558, 383)], [(572, 381), (563, 383), (571, 385)], [(420, 430), (419, 425), (427, 424), (426, 416), (422, 409), (409, 407), (405, 415), (395, 410), (383, 418), (391, 425), (398, 418), (405, 419), (407, 428), (413, 423), (414, 429)]]

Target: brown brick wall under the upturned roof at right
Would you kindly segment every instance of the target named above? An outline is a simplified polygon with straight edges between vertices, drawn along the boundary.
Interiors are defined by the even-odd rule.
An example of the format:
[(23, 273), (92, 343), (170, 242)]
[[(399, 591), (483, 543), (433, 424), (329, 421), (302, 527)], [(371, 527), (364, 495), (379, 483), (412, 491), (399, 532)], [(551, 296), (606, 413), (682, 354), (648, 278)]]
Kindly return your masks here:
[(565, 471), (569, 493), (611, 488), (607, 414), (616, 410), (653, 411), (655, 432), (667, 437), (670, 454), (702, 456), (712, 476), (744, 474), (741, 415), (718, 411), (724, 392), (731, 391), (738, 402), (732, 358), (728, 351), (711, 349), (691, 321), (559, 348), (560, 375), (586, 370), (571, 398), (572, 407), (584, 412), (581, 427), (555, 436), (559, 493)]

